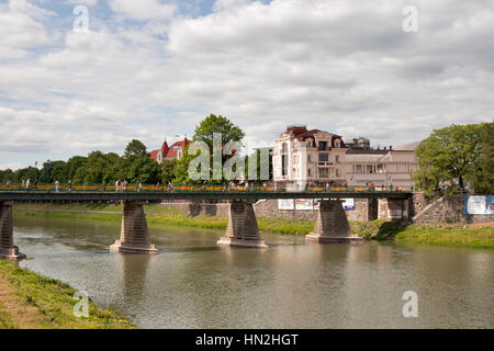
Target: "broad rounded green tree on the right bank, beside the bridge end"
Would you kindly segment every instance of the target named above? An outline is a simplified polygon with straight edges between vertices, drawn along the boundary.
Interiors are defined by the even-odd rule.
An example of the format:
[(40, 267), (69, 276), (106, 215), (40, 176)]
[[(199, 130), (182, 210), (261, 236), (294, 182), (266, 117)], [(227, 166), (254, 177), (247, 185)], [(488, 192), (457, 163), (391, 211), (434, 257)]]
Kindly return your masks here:
[[(434, 129), (416, 149), (419, 169), (413, 174), (416, 186), (427, 195), (464, 190), (464, 180), (479, 152), (481, 125), (451, 125)], [(445, 191), (446, 190), (446, 191)]]

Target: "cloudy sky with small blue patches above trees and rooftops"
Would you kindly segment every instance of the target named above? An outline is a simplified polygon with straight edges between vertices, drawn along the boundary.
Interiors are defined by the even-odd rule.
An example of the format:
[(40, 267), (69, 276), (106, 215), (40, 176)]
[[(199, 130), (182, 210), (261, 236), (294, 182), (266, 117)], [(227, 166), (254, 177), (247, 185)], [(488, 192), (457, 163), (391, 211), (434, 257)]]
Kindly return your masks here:
[(494, 0), (0, 1), (0, 169), (158, 148), (210, 113), (250, 147), (292, 123), (419, 140), (493, 121), (493, 44)]

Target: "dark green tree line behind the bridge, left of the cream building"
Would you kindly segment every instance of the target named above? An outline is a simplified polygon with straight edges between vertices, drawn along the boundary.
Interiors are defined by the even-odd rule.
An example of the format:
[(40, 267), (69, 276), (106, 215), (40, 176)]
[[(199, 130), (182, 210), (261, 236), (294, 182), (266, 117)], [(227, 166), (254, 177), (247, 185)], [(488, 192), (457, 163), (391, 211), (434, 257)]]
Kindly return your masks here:
[[(211, 148), (213, 146), (213, 133), (221, 133), (223, 143), (229, 140), (242, 141), (244, 132), (234, 125), (228, 118), (221, 115), (211, 114), (206, 116), (197, 126), (193, 141), (205, 141)], [(46, 161), (41, 169), (36, 167), (26, 167), (13, 170), (0, 170), (0, 182), (3, 184), (10, 180), (11, 183), (21, 183), (22, 180), (30, 179), (37, 183), (60, 183), (79, 184), (106, 184), (116, 180), (127, 181), (130, 183), (143, 184), (193, 184), (189, 178), (188, 166), (195, 155), (189, 155), (186, 147), (180, 160), (165, 160), (161, 165), (150, 159), (147, 147), (139, 140), (133, 139), (126, 146), (122, 156), (115, 152), (103, 152), (96, 150), (88, 156), (74, 156), (67, 161)], [(258, 152), (258, 151), (257, 151)], [(259, 154), (259, 152), (258, 152)], [(259, 157), (259, 155), (257, 155)], [(226, 160), (232, 156), (224, 156)], [(258, 167), (260, 161), (258, 162)], [(270, 169), (272, 173), (272, 169)], [(220, 183), (226, 183), (223, 179)]]

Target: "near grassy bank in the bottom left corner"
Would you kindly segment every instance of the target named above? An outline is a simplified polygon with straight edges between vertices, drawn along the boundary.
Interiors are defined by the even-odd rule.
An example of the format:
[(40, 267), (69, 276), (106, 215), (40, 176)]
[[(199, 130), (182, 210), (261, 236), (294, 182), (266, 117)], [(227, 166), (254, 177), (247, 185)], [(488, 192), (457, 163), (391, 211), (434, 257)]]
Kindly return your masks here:
[(128, 329), (119, 313), (89, 301), (89, 317), (77, 318), (76, 290), (0, 260), (0, 329)]

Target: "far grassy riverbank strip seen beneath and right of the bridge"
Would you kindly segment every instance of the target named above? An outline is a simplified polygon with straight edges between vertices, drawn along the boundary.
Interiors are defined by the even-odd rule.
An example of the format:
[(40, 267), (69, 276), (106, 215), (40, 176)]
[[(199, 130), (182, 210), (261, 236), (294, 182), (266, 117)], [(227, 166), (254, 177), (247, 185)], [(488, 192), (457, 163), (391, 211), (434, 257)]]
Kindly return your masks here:
[[(88, 218), (120, 220), (122, 205), (15, 205), (14, 213), (29, 216), (54, 218)], [(227, 219), (218, 216), (189, 217), (182, 212), (162, 206), (146, 205), (147, 220), (157, 226), (198, 227), (223, 230)], [(283, 235), (305, 235), (314, 229), (314, 222), (307, 219), (284, 219), (258, 217), (261, 231)], [(426, 245), (494, 248), (494, 223), (487, 224), (402, 224), (384, 220), (350, 222), (352, 233), (368, 239), (397, 240)]]

